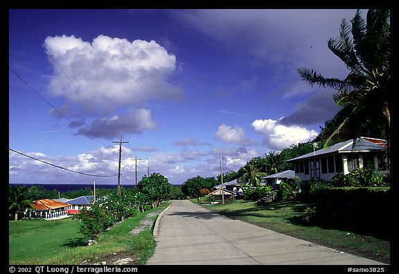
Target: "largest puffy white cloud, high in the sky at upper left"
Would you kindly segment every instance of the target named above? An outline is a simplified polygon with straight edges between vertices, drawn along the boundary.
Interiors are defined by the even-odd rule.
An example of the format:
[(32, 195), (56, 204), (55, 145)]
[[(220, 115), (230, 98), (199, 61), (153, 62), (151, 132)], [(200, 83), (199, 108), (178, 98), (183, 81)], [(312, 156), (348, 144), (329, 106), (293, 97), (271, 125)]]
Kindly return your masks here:
[(62, 35), (47, 37), (44, 47), (55, 74), (49, 92), (71, 102), (87, 107), (87, 100), (94, 108), (109, 110), (183, 95), (167, 81), (176, 69), (175, 55), (155, 41), (99, 35), (90, 43)]

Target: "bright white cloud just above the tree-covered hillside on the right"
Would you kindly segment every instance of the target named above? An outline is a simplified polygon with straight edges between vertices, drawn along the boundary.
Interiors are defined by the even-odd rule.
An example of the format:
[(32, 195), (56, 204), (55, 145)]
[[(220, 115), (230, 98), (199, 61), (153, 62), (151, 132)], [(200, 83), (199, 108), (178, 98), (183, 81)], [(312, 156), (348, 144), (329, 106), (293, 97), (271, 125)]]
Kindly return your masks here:
[(258, 119), (252, 122), (251, 126), (265, 137), (263, 143), (275, 151), (281, 151), (299, 142), (308, 142), (318, 134), (315, 130), (308, 130), (302, 126), (285, 126), (273, 119)]

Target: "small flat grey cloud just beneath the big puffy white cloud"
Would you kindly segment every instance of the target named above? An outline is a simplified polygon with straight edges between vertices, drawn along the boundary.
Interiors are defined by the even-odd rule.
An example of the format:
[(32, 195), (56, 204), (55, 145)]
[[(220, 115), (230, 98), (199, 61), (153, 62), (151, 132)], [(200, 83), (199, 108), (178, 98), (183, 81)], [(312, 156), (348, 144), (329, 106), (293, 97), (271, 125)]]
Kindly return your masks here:
[(143, 130), (152, 130), (155, 126), (151, 111), (139, 109), (130, 110), (121, 117), (114, 115), (111, 118), (95, 119), (91, 126), (80, 128), (76, 134), (90, 138), (112, 139), (120, 137), (120, 132), (139, 134)]

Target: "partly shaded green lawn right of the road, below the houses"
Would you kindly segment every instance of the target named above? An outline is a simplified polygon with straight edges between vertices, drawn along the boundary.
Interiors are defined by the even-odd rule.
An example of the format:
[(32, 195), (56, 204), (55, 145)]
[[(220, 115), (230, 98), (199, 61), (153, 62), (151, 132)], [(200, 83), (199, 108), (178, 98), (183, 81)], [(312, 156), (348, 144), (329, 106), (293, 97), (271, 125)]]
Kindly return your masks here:
[[(197, 203), (197, 200), (192, 202)], [(285, 201), (258, 205), (256, 201), (236, 200), (225, 205), (202, 206), (262, 228), (389, 264), (389, 241), (348, 230), (305, 225), (301, 216), (303, 209), (309, 206), (306, 203)]]

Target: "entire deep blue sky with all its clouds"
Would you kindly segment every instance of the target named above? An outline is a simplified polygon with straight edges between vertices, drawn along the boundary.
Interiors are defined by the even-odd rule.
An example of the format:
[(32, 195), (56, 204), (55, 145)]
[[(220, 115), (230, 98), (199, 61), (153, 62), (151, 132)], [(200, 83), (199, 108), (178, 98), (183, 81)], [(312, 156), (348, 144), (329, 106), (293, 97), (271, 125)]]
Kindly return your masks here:
[[(337, 112), (328, 50), (356, 10), (9, 10), (9, 148), (65, 169), (159, 172), (172, 184), (237, 171), (307, 142)], [(366, 10), (362, 10), (365, 17)], [(10, 151), (11, 183), (115, 183)]]

